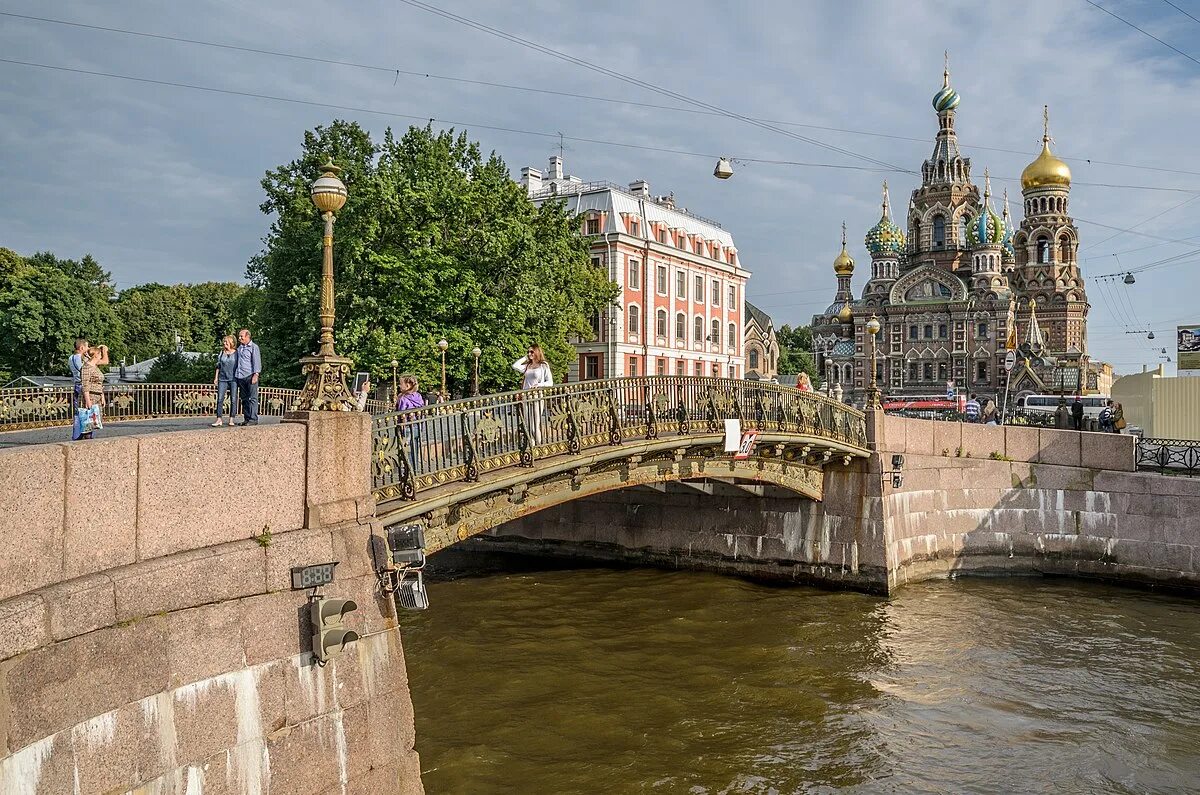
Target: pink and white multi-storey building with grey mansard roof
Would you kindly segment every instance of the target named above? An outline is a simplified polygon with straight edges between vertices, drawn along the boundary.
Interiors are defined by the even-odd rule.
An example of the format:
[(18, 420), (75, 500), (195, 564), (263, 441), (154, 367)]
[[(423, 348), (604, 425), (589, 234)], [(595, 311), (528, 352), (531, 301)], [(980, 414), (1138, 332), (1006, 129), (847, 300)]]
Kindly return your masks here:
[(622, 187), (550, 169), (521, 169), (530, 201), (562, 199), (592, 239), (592, 263), (620, 286), (577, 340), (570, 381), (644, 375), (742, 378), (745, 286), (733, 237), (715, 221), (652, 196), (644, 180)]

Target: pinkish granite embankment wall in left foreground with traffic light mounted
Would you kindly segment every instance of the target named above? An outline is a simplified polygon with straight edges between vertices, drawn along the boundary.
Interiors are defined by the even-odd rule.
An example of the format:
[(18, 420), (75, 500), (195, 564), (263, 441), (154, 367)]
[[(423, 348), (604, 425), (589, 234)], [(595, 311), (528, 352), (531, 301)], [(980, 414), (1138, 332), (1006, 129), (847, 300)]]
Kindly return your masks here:
[[(0, 450), (0, 793), (421, 791), (368, 420)], [(362, 640), (320, 668), (328, 561)]]

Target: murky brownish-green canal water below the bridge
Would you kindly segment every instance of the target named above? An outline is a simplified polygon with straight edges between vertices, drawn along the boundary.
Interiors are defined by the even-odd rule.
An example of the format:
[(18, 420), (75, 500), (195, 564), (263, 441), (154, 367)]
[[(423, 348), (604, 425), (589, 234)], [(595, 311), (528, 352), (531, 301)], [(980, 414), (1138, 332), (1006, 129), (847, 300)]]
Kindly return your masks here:
[(402, 616), (430, 795), (1200, 791), (1198, 600), (607, 568), (430, 597)]

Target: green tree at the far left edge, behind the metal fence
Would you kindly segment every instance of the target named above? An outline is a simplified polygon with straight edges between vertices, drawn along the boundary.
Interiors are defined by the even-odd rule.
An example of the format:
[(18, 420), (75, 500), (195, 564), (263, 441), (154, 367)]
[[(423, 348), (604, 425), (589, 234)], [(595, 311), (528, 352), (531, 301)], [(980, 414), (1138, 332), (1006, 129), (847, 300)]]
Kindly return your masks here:
[(76, 337), (124, 349), (113, 311), (112, 276), (90, 256), (59, 259), (49, 252), (22, 257), (0, 249), (0, 371), (67, 373)]

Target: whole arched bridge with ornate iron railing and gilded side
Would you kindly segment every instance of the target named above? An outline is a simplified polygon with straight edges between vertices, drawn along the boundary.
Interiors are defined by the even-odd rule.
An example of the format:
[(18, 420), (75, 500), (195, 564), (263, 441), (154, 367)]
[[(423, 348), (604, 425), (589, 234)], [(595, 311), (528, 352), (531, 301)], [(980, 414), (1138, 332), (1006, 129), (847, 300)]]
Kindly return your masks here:
[[(724, 452), (725, 420), (757, 431)], [(373, 419), (385, 525), (424, 519), (427, 551), (600, 491), (670, 480), (822, 497), (823, 467), (865, 458), (862, 412), (778, 384), (650, 376), (438, 404)], [(751, 489), (752, 490), (752, 489)]]

